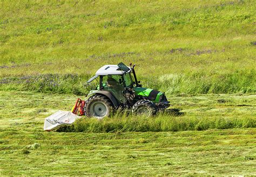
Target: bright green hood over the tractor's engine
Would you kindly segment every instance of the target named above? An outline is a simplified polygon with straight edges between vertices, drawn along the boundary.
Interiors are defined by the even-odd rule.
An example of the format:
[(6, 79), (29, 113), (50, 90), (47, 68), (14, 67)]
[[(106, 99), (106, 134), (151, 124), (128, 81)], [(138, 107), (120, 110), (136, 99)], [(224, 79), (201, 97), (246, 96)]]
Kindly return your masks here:
[(151, 88), (143, 88), (143, 87), (134, 87), (136, 96), (147, 97), (147, 99), (151, 100), (153, 103), (158, 103), (162, 92), (157, 90), (153, 90)]

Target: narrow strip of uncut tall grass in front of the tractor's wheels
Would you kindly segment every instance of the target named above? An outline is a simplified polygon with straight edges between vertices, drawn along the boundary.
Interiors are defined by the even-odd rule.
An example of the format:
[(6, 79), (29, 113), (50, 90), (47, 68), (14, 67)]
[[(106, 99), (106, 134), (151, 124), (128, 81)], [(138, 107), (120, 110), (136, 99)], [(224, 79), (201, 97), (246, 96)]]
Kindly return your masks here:
[(254, 117), (224, 118), (224, 117), (176, 117), (158, 115), (146, 118), (117, 114), (112, 118), (98, 120), (96, 118), (81, 118), (72, 125), (63, 125), (59, 132), (169, 132), (169, 131), (203, 131), (208, 129), (249, 128), (256, 127)]

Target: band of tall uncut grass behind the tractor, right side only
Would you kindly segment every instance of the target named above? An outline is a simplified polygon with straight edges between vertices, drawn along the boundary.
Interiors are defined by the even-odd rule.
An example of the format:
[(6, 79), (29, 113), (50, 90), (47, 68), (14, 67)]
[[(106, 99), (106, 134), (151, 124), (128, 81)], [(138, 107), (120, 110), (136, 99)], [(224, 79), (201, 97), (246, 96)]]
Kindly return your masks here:
[[(157, 81), (157, 83), (156, 83)], [(232, 73), (169, 74), (147, 82), (159, 90), (172, 93), (255, 93), (256, 70)]]

